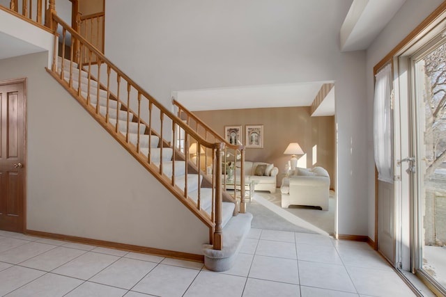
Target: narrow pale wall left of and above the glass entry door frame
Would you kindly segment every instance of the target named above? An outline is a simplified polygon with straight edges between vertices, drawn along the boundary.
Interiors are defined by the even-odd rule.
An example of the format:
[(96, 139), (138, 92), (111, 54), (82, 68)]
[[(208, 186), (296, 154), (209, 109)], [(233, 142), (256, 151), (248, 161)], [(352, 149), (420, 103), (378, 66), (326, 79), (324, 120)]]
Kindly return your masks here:
[(407, 0), (392, 20), (385, 26), (378, 37), (367, 49), (367, 129), (368, 129), (368, 208), (369, 208), (369, 237), (374, 239), (374, 209), (375, 186), (374, 145), (373, 145), (373, 104), (374, 104), (374, 66), (380, 62), (406, 35), (415, 29), (433, 10), (441, 0)]

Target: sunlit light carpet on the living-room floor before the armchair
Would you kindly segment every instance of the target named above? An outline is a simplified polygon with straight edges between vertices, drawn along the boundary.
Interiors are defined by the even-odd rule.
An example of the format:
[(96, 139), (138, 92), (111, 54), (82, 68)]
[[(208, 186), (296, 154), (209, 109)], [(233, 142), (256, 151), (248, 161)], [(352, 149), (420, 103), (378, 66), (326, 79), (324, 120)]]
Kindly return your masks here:
[(247, 200), (247, 211), (253, 215), (251, 227), (268, 230), (333, 234), (335, 195), (330, 192), (329, 210), (312, 207), (284, 209), (280, 193), (255, 192), (252, 200)]

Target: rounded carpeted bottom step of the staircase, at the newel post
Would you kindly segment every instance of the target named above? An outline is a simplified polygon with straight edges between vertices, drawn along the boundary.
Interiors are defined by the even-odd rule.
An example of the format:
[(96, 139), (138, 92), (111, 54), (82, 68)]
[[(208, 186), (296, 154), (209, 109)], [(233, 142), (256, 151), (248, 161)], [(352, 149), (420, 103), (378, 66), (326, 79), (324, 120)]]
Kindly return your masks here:
[(212, 245), (203, 245), (204, 265), (210, 271), (229, 270), (236, 261), (243, 241), (251, 229), (252, 214), (238, 214), (222, 230), (222, 250), (214, 250)]

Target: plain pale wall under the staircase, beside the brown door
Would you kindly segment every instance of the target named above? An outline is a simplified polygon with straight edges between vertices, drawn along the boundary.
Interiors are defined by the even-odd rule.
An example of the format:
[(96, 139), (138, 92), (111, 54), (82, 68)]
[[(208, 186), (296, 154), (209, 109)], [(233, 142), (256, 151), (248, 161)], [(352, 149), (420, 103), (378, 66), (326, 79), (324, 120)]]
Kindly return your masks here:
[(208, 228), (47, 74), (46, 61), (0, 61), (0, 80), (27, 78), (26, 228), (202, 254)]

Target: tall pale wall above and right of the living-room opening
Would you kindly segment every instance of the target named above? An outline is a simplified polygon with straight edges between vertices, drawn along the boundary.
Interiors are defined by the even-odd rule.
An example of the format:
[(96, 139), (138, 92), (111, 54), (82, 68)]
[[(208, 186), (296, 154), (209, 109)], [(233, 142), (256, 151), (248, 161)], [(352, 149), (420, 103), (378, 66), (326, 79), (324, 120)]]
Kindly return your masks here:
[[(339, 51), (350, 4), (107, 1), (105, 54), (167, 107), (175, 90), (335, 81), (338, 233), (367, 235), (365, 52)], [(337, 26), (327, 26), (333, 18)]]

